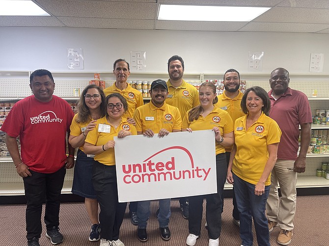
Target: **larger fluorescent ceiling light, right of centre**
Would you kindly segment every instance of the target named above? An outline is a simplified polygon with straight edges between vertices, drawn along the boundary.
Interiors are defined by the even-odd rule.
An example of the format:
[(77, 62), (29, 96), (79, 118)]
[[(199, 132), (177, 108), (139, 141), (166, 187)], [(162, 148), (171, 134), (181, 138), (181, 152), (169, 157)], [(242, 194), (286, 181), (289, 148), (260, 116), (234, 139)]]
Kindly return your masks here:
[(158, 20), (249, 22), (270, 8), (160, 4)]

